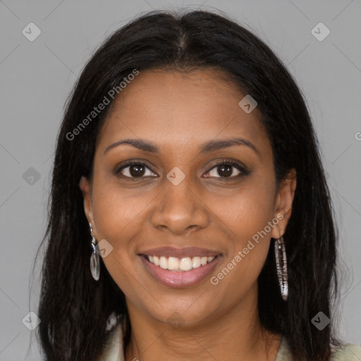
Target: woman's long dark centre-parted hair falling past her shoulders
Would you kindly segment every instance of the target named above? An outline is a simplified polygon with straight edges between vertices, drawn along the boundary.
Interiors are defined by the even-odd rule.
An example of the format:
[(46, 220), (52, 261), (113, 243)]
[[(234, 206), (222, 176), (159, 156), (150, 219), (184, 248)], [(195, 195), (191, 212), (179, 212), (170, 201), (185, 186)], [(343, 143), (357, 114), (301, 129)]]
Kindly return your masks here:
[(305, 100), (264, 42), (227, 16), (208, 11), (153, 11), (121, 27), (94, 53), (68, 99), (40, 245), (46, 243), (38, 336), (46, 359), (97, 360), (111, 331), (110, 319), (124, 321), (125, 345), (130, 339), (123, 292), (103, 262), (99, 281), (90, 274), (90, 230), (79, 188), (81, 176), (92, 177), (97, 135), (113, 103), (86, 126), (79, 125), (134, 69), (160, 68), (217, 68), (256, 99), (274, 152), (277, 184), (293, 168), (298, 178), (284, 234), (288, 300), (281, 299), (270, 248), (258, 279), (259, 317), (265, 328), (286, 338), (295, 360), (329, 360), (329, 343), (337, 342), (332, 323), (319, 331), (311, 320), (318, 312), (332, 319), (331, 302), (338, 294), (336, 228)]

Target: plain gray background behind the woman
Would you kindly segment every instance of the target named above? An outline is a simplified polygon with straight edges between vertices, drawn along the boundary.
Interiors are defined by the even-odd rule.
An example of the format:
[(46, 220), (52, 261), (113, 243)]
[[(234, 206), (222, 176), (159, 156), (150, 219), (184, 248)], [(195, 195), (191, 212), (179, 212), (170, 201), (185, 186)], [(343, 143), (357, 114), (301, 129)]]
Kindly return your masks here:
[[(40, 360), (34, 334), (32, 353), (27, 355), (32, 331), (22, 319), (36, 310), (39, 297), (39, 265), (34, 280), (30, 271), (46, 225), (54, 144), (73, 83), (106, 35), (141, 12), (185, 6), (219, 8), (250, 27), (281, 57), (304, 92), (341, 236), (345, 277), (339, 330), (343, 339), (361, 343), (360, 0), (4, 0), (0, 1), (0, 361)], [(30, 22), (42, 32), (33, 42), (22, 33)], [(322, 42), (311, 33), (319, 22), (331, 31)], [(26, 176), (30, 167), (39, 173), (39, 180)], [(28, 172), (31, 176), (34, 171)]]

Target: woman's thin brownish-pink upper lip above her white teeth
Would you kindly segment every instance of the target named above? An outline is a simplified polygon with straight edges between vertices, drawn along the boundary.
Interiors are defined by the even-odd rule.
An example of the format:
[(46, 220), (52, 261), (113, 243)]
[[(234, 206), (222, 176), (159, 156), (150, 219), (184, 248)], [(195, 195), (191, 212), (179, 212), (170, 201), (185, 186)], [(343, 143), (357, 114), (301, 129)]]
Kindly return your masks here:
[(157, 257), (216, 257), (221, 255), (220, 252), (214, 250), (207, 250), (200, 247), (157, 247), (149, 250), (144, 250), (139, 255), (157, 256)]

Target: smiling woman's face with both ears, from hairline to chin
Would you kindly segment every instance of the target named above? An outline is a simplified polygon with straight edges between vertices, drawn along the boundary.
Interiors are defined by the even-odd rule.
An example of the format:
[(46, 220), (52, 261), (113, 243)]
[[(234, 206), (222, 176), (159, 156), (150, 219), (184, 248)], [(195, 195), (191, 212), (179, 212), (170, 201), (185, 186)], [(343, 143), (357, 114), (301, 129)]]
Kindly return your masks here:
[(259, 111), (219, 75), (140, 72), (99, 134), (92, 188), (80, 181), (130, 313), (195, 325), (257, 305), (271, 237), (286, 228), (295, 182), (276, 189)]

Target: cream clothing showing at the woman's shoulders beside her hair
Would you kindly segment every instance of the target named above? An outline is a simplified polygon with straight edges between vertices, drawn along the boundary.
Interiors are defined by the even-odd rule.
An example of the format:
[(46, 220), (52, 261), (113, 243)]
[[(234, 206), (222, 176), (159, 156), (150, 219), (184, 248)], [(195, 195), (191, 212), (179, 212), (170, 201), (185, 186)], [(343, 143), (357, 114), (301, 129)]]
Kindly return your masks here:
[[(124, 361), (123, 344), (121, 340), (123, 332), (121, 324), (116, 326), (109, 338), (102, 361)], [(136, 359), (135, 359), (136, 360)], [(345, 345), (343, 348), (338, 348), (332, 354), (332, 361), (361, 361), (361, 346), (360, 345)], [(279, 352), (274, 361), (293, 361), (290, 349), (285, 338), (281, 338)]]

